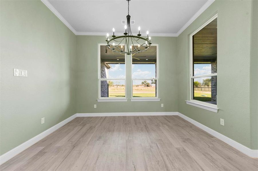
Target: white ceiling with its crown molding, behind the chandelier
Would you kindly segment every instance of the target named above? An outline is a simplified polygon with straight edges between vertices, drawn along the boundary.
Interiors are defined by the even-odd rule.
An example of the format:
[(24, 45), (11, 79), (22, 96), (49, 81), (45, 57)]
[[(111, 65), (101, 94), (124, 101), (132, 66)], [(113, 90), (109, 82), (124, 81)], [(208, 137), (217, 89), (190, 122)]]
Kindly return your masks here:
[[(138, 26), (141, 26), (141, 32), (149, 30), (150, 36), (177, 36), (213, 2), (207, 1), (131, 0), (129, 2), (131, 20), (135, 20), (131, 30), (136, 33)], [(111, 34), (113, 27), (116, 32), (124, 32), (121, 20), (126, 20), (126, 0), (42, 0), (42, 2), (77, 34), (105, 35), (107, 32)]]

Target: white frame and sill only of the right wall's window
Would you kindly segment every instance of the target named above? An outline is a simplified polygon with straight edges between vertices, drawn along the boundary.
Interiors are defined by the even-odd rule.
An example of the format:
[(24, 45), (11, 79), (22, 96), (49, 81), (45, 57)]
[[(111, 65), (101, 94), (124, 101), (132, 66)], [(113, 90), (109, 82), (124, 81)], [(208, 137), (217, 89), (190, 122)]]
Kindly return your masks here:
[[(218, 112), (218, 98), (217, 98), (217, 105), (215, 104), (211, 104), (211, 103), (207, 103), (207, 102), (203, 102), (203, 101), (198, 101), (198, 100), (194, 100), (193, 99), (193, 79), (194, 78), (203, 78), (203, 77), (212, 77), (212, 76), (217, 76), (217, 73), (213, 73), (213, 74), (205, 74), (205, 75), (199, 75), (199, 76), (194, 76), (193, 73), (193, 36), (194, 34), (196, 34), (198, 31), (200, 31), (202, 28), (204, 28), (206, 25), (208, 25), (209, 23), (211, 23), (214, 19), (218, 18), (218, 14), (214, 15), (213, 17), (211, 17), (206, 23), (204, 23), (201, 27), (199, 27), (197, 30), (195, 30), (192, 34), (190, 34), (190, 79), (189, 79), (189, 86), (190, 86), (190, 92), (189, 92), (189, 97), (190, 100), (186, 100), (186, 103), (188, 105), (192, 105), (195, 107), (200, 107), (202, 109), (206, 109), (212, 112), (217, 113)], [(217, 91), (218, 91), (218, 87), (217, 87)], [(217, 96), (218, 97), (218, 96)]]

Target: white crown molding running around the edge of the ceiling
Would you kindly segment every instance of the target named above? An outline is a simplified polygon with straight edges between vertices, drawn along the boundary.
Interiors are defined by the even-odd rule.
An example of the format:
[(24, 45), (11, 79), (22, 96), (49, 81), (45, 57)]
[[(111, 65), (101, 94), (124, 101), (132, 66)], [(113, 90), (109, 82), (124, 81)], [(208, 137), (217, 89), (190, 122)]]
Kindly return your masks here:
[[(41, 0), (52, 13), (56, 15), (75, 35), (87, 35), (87, 36), (105, 36), (106, 32), (78, 32), (64, 19), (64, 17), (51, 5), (48, 0)], [(177, 33), (151, 33), (151, 36), (166, 36), (177, 37), (179, 36), (199, 15), (201, 15), (215, 0), (208, 0), (194, 16), (177, 32)], [(123, 35), (123, 33), (116, 33), (117, 35)], [(138, 33), (135, 33), (138, 34)], [(143, 36), (146, 36), (143, 34)]]

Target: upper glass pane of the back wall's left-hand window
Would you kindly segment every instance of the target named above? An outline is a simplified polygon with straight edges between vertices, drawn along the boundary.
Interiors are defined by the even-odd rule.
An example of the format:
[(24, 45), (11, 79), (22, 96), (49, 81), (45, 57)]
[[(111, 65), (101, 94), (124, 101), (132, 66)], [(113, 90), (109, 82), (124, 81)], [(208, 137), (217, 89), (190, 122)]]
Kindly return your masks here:
[(100, 48), (101, 78), (125, 78), (125, 55), (113, 53), (105, 45)]

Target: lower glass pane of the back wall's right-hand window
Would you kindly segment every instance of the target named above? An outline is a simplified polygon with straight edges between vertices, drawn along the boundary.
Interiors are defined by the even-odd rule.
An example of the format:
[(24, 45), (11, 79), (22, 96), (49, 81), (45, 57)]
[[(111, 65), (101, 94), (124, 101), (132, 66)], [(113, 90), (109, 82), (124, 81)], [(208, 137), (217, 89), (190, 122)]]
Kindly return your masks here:
[(156, 80), (133, 80), (133, 97), (157, 97)]

